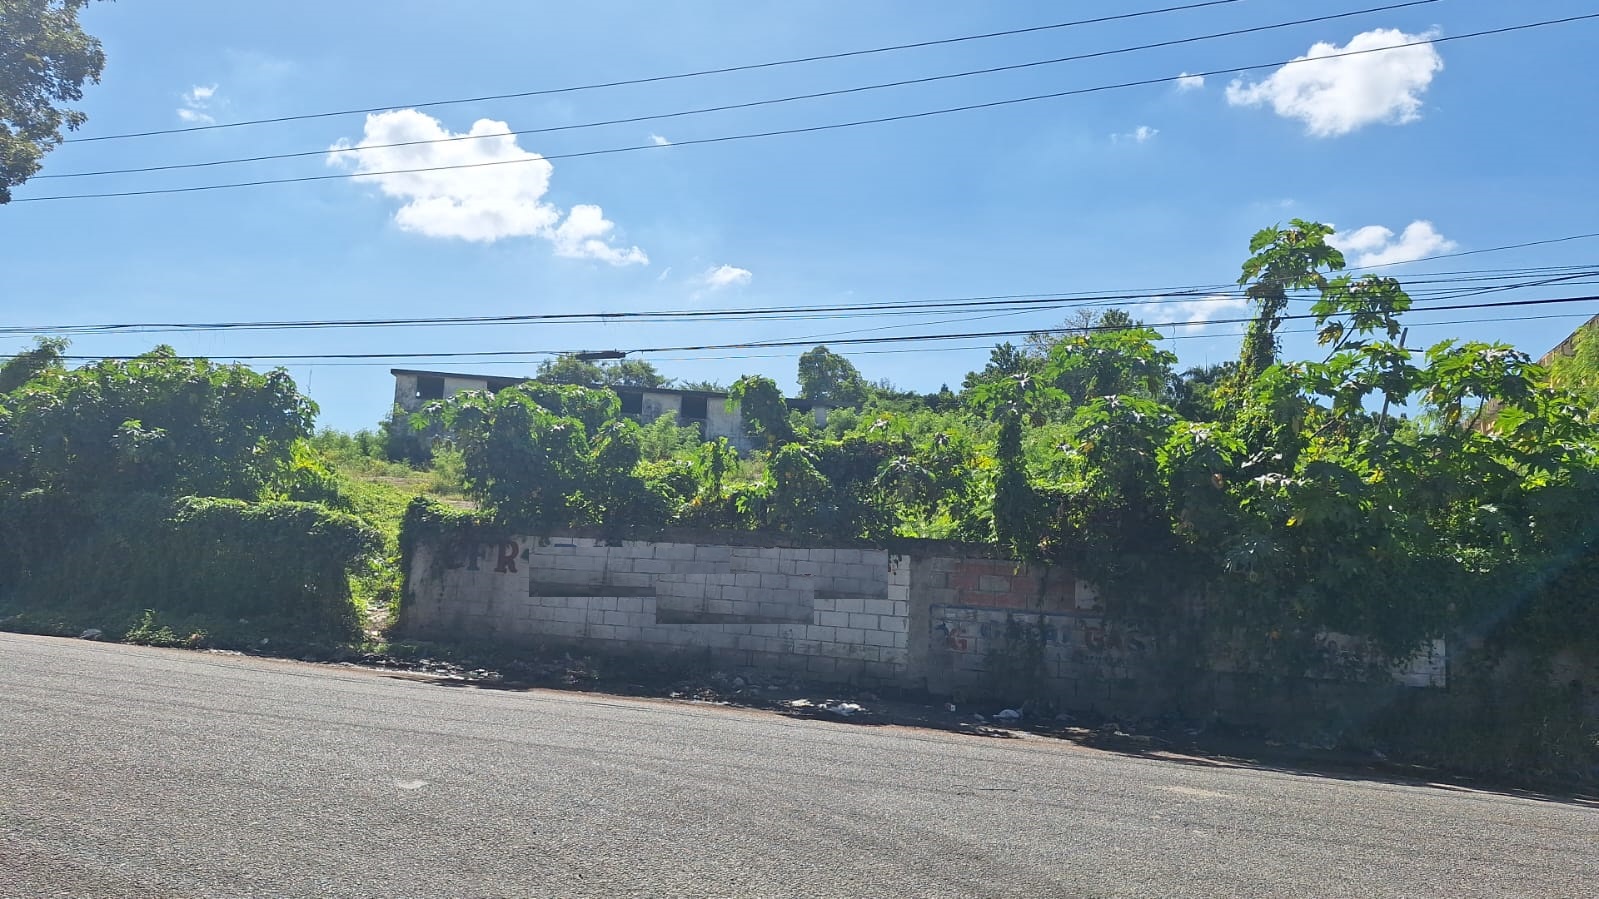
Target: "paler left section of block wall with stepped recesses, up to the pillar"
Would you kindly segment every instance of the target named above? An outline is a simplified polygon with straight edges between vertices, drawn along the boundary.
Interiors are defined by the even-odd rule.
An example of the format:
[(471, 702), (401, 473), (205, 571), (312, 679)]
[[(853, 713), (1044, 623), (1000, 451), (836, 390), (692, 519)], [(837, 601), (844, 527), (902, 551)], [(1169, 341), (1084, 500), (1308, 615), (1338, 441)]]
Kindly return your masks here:
[(910, 568), (871, 549), (524, 537), (417, 547), (416, 637), (702, 653), (817, 680), (907, 677)]

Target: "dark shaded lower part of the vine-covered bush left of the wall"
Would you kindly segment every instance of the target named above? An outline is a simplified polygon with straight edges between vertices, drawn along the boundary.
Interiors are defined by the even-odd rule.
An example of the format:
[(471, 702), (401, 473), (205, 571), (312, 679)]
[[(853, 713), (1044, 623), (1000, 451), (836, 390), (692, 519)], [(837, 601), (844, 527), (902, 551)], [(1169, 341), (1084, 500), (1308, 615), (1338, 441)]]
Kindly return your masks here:
[(213, 643), (342, 643), (349, 573), (379, 542), (307, 502), (34, 491), (0, 502), (0, 617), (117, 637), (152, 609)]

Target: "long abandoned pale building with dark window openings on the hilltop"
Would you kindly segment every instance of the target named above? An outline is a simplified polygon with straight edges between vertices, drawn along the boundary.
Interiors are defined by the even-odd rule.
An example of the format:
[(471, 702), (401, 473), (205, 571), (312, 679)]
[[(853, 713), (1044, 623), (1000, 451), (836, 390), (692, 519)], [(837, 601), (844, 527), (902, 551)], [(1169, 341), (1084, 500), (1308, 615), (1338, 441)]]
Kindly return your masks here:
[[(497, 394), (505, 387), (532, 381), (532, 378), (496, 378), (489, 374), (457, 374), (453, 371), (416, 371), (393, 368), (395, 414), (417, 413), (432, 400), (445, 400), (464, 390), (488, 390)], [(705, 440), (728, 438), (728, 443), (748, 453), (755, 448), (744, 432), (744, 416), (737, 406), (728, 410), (728, 394), (716, 390), (675, 390), (672, 387), (614, 387), (622, 400), (622, 414), (641, 424), (660, 416), (676, 416), (678, 424), (699, 427)], [(828, 406), (814, 400), (787, 400), (793, 411), (811, 413), (819, 426), (827, 424)]]

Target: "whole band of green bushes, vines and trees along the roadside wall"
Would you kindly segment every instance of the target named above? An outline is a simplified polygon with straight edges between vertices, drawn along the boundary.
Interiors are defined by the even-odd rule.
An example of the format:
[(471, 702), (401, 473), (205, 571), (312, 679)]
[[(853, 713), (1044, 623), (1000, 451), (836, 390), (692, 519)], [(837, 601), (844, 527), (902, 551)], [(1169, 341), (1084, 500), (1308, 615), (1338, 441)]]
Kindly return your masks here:
[[(1329, 662), (1330, 633), (1366, 648), (1378, 683), (1449, 638), (1449, 720), (1482, 731), (1476, 749), (1434, 752), (1428, 734), (1460, 731), (1420, 699), (1367, 733), (1457, 765), (1591, 761), (1593, 721), (1551, 672), (1599, 662), (1599, 341), (1553, 373), (1500, 344), (1406, 347), (1402, 285), (1340, 274), (1329, 232), (1255, 235), (1236, 363), (1178, 373), (1121, 310), (995, 347), (959, 392), (870, 384), (817, 347), (804, 392), (841, 406), (817, 426), (772, 379), (740, 378), (745, 456), (673, 418), (624, 418), (612, 387), (659, 382), (636, 366), (561, 360), (550, 381), (430, 403), (414, 424), (451, 437), (419, 470), (389, 461), (393, 434), (310, 437), (315, 408), (281, 371), (165, 349), (69, 371), (42, 342), (0, 366), (0, 616), (144, 641), (237, 619), (326, 640), (352, 609), (392, 609), (408, 545), (464, 520), (998, 542), (1099, 584), (1174, 685), (1218, 657), (1286, 683)], [(1290, 298), (1311, 301), (1321, 358), (1281, 358)], [(999, 669), (1025, 678), (1022, 661)]]

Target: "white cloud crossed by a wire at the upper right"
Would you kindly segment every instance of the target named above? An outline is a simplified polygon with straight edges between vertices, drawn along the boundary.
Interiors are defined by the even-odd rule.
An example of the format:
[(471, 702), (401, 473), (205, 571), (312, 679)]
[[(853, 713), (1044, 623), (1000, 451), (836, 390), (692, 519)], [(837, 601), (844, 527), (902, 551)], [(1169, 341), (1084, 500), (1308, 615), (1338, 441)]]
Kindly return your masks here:
[[(1226, 102), (1262, 106), (1286, 118), (1298, 118), (1316, 138), (1337, 138), (1367, 125), (1404, 125), (1422, 117), (1422, 94), (1444, 59), (1428, 34), (1374, 29), (1350, 38), (1345, 46), (1316, 43), (1310, 53), (1278, 69), (1268, 78), (1247, 85), (1242, 78), (1226, 86)], [(1401, 46), (1415, 43), (1415, 46)], [(1372, 51), (1359, 56), (1337, 53)]]

